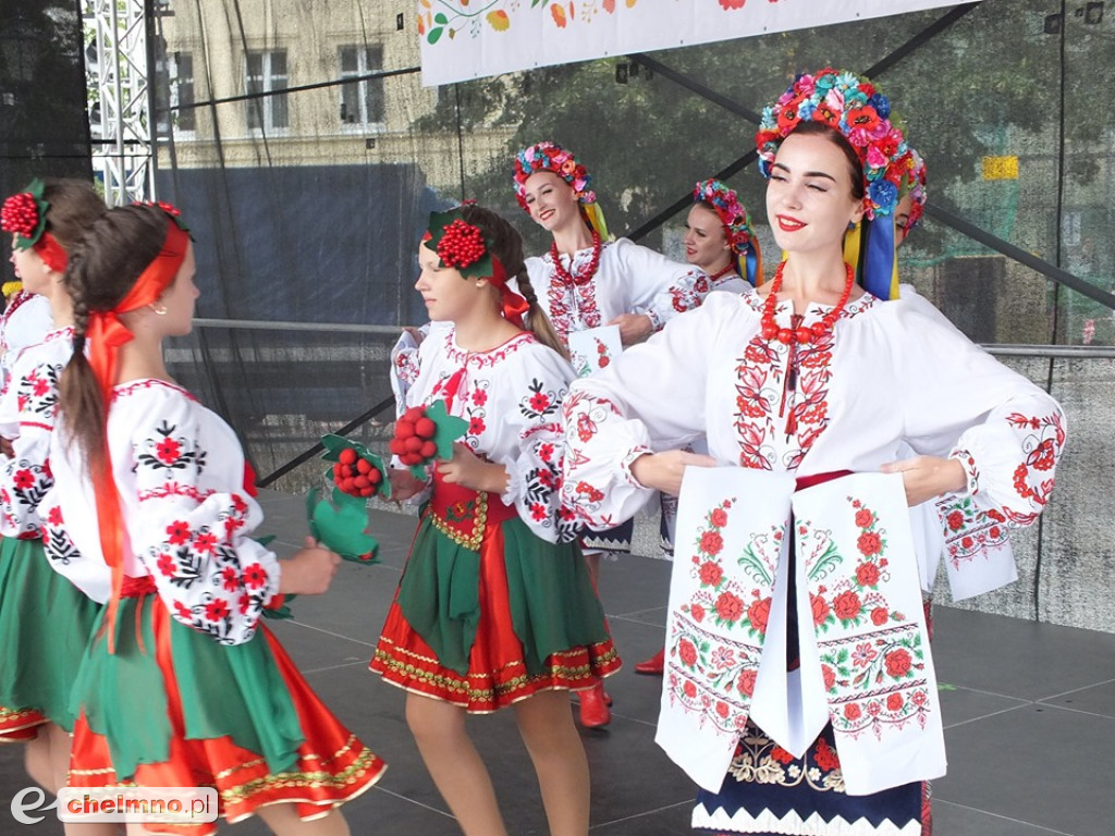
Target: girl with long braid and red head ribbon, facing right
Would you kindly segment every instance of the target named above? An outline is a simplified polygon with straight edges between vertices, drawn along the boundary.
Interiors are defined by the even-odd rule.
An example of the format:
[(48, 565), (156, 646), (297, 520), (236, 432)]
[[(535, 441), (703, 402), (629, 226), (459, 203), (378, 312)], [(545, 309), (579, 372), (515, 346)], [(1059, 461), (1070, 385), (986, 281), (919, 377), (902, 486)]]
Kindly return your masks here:
[(345, 836), (336, 808), (385, 766), (259, 624), (277, 596), (324, 592), (340, 558), (310, 541), (280, 562), (251, 537), (262, 517), (232, 428), (163, 362), (163, 340), (191, 330), (193, 276), (177, 211), (133, 205), (91, 226), (64, 280), (76, 337), (43, 500), (48, 548), (68, 532), (109, 590), (74, 684), (70, 786), (214, 787), (229, 822)]

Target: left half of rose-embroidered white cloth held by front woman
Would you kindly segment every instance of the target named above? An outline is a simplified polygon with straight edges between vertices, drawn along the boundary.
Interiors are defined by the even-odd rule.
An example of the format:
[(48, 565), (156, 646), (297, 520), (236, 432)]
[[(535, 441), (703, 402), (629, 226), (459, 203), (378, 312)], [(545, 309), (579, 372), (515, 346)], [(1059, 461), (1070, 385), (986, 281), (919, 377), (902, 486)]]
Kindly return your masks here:
[(793, 490), (785, 473), (686, 468), (655, 740), (712, 791), (750, 715), (768, 623), (782, 626), (774, 655), (782, 648), (785, 672), (785, 593), (772, 606)]

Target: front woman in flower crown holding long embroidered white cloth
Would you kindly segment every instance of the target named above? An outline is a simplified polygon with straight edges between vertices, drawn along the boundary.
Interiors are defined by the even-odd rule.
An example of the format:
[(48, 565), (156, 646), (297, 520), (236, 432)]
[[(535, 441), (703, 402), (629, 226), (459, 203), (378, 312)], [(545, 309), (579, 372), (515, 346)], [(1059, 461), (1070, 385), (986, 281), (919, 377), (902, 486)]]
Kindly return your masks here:
[[(589, 525), (630, 516), (655, 489), (677, 494), (702, 463), (675, 448), (701, 435), (725, 469), (691, 473), (694, 484), (755, 488), (704, 516), (692, 561), (673, 564), (658, 741), (701, 787), (701, 830), (928, 830), (924, 782), (944, 771), (943, 733), (917, 553), (899, 536), (910, 531), (904, 505), (960, 492), (1030, 524), (1065, 441), (1049, 396), (912, 291), (889, 299), (892, 213), (910, 164), (889, 114), (852, 75), (798, 77), (757, 135), (767, 214), (787, 253), (774, 280), (756, 294), (711, 294), (565, 401), (565, 500)], [(842, 249), (861, 220), (857, 284)], [(589, 438), (576, 431), (583, 418)], [(903, 443), (920, 455), (895, 461)], [(842, 476), (882, 485), (888, 516), (824, 484)], [(582, 482), (597, 493), (571, 489)], [(840, 499), (787, 529), (784, 509), (805, 505), (811, 485)], [(746, 542), (769, 572), (735, 551), (720, 560), (717, 526), (733, 525), (755, 533)], [(842, 548), (817, 572), (806, 535), (825, 529)]]

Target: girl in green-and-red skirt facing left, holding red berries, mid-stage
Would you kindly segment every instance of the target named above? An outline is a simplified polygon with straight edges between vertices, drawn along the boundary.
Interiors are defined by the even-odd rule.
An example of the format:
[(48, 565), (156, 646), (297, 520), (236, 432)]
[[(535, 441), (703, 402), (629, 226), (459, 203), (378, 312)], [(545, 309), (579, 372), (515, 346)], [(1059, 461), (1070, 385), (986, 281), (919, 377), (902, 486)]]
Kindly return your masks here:
[(464, 206), (432, 214), (418, 249), (415, 286), (430, 319), (450, 327), (423, 341), (399, 412), (444, 401), (468, 429), (430, 483), (392, 472), (396, 498), (433, 490), (371, 670), (409, 692), (407, 722), (466, 834), (507, 830), (465, 716), (511, 706), (550, 833), (584, 836), (589, 768), (566, 691), (593, 687), (620, 660), (579, 527), (559, 502), (561, 400), (573, 370), (522, 246), (498, 215)]

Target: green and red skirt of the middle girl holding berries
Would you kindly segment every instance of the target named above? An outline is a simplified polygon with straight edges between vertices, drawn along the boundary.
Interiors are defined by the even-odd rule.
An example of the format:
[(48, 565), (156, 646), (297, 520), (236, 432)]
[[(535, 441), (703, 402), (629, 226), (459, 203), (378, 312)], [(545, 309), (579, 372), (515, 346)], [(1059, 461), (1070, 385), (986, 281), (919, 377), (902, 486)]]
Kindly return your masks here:
[(592, 688), (621, 664), (575, 543), (542, 539), (494, 495), (437, 483), (370, 670), (489, 713)]

